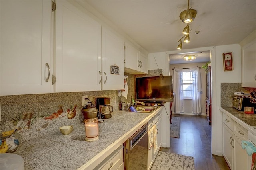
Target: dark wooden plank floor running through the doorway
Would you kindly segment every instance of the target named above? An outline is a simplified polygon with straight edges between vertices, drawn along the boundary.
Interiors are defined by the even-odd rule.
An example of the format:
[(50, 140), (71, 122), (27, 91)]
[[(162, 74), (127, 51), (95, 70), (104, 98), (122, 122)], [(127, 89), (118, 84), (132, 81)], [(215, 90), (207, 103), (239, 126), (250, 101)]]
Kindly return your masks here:
[(193, 156), (195, 170), (230, 170), (222, 156), (211, 154), (211, 126), (206, 116), (173, 116), (181, 117), (180, 138), (171, 137), (170, 149), (160, 150)]

